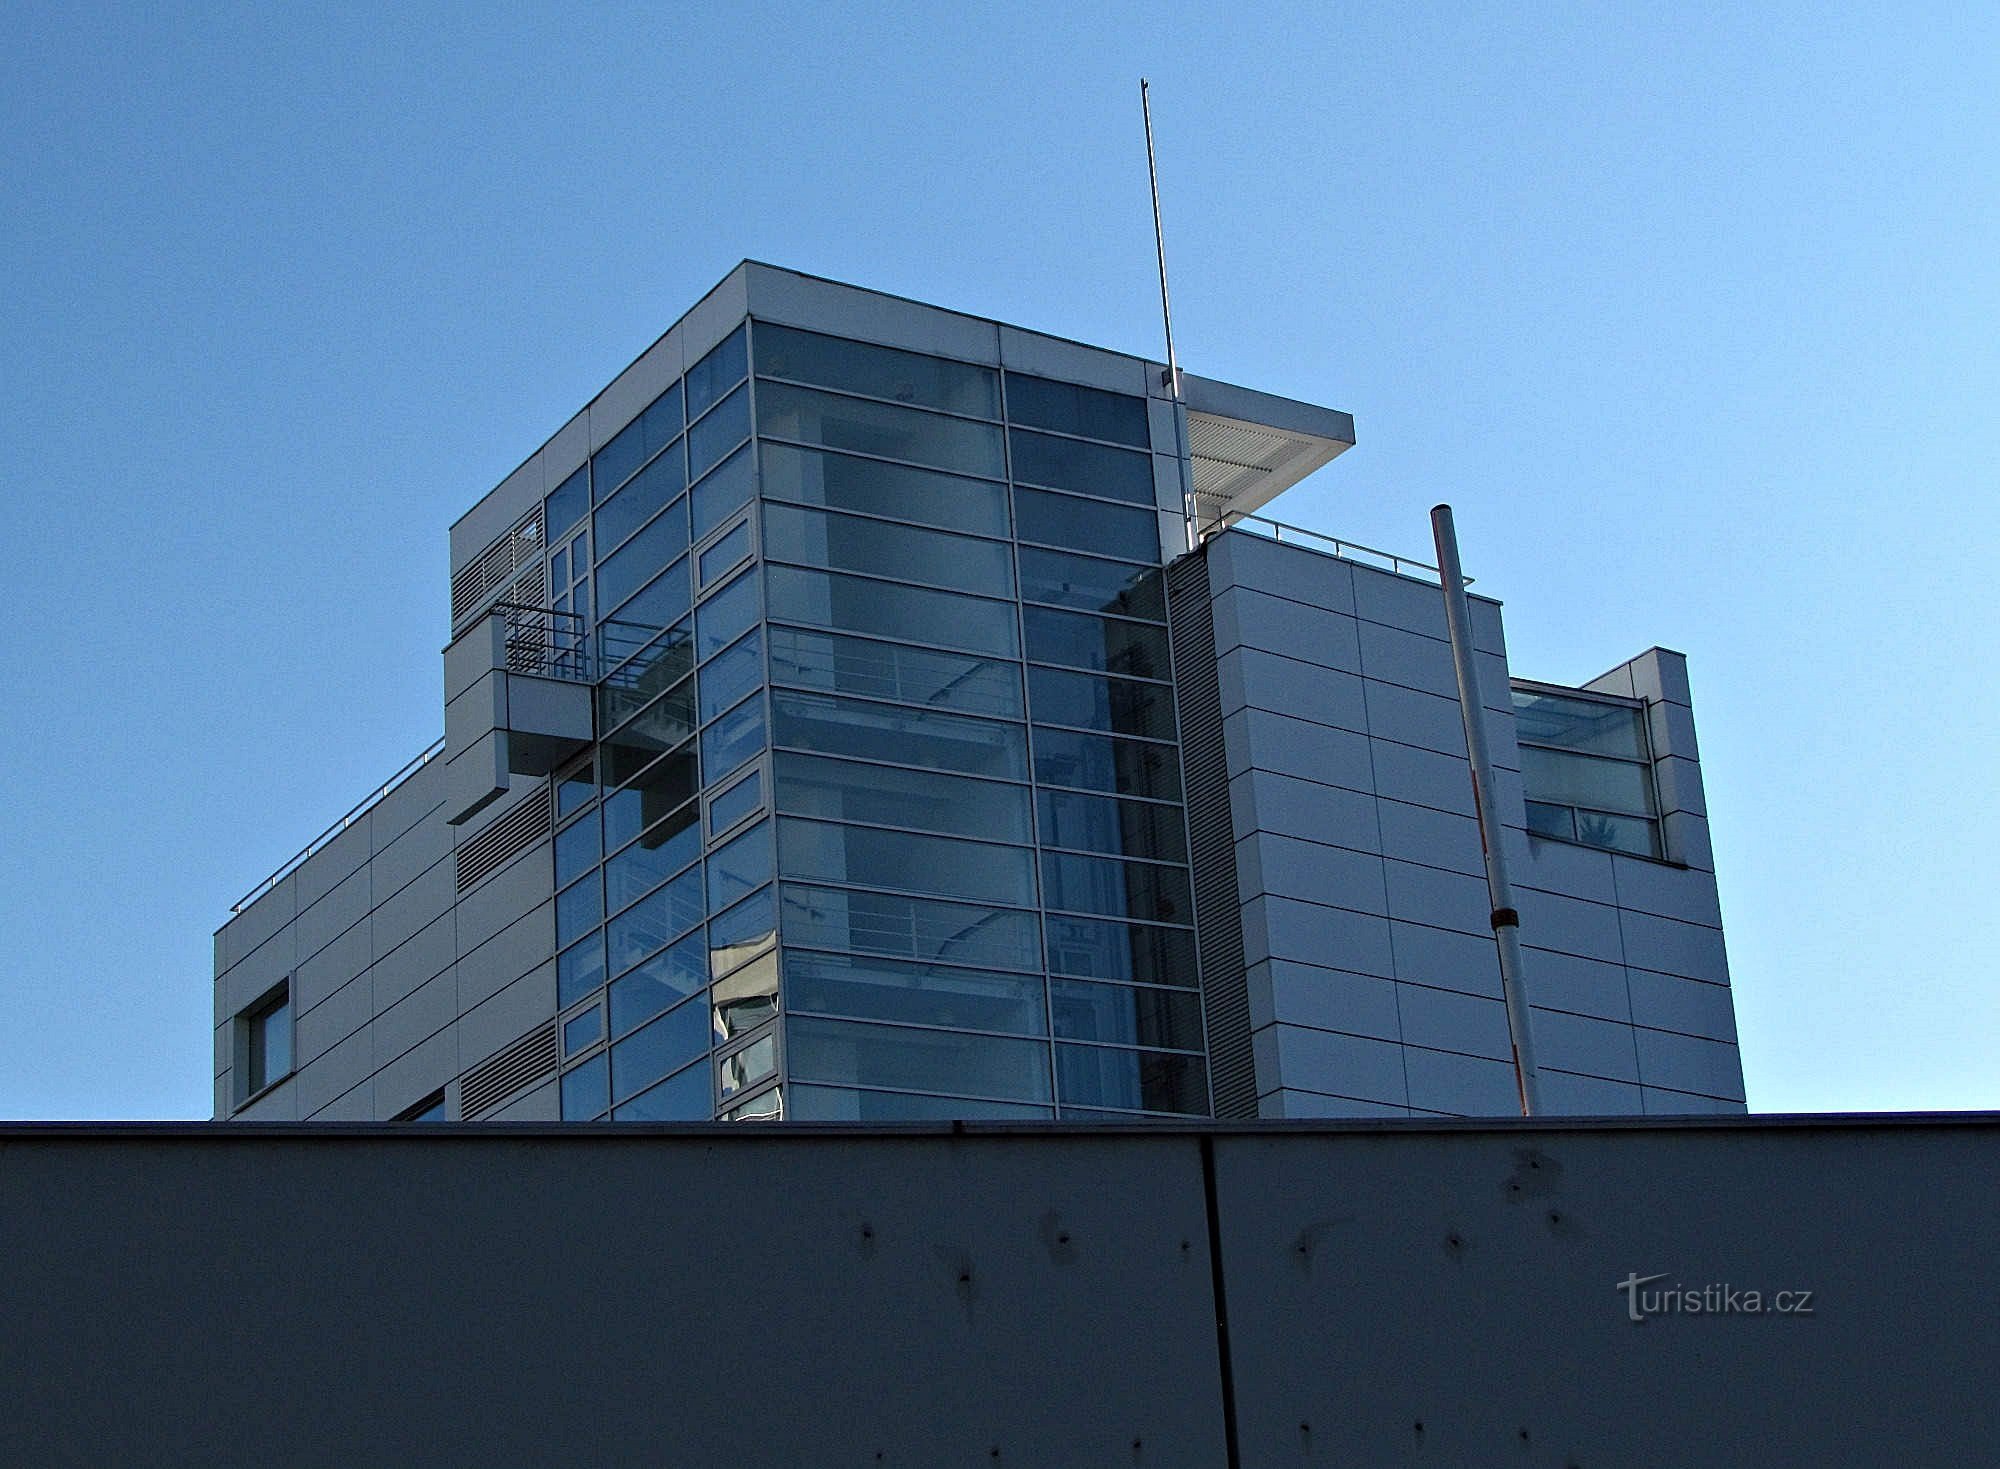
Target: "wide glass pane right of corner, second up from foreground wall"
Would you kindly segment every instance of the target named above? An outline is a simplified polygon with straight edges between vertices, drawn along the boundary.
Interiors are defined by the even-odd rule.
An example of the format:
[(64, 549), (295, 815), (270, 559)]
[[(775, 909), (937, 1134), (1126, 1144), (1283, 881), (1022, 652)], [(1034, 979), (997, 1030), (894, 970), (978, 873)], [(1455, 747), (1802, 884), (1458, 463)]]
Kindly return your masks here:
[(854, 1021), (786, 1021), (798, 1081), (1048, 1101), (1048, 1043)]

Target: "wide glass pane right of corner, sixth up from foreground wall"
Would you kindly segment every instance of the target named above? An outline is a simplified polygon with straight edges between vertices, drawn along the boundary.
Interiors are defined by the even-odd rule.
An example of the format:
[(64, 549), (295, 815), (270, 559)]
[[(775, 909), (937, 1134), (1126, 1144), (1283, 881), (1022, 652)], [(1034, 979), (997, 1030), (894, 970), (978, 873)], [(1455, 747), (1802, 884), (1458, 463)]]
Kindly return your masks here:
[(1032, 843), (1028, 789), (960, 775), (778, 755), (778, 811), (788, 817), (866, 821), (882, 827)]

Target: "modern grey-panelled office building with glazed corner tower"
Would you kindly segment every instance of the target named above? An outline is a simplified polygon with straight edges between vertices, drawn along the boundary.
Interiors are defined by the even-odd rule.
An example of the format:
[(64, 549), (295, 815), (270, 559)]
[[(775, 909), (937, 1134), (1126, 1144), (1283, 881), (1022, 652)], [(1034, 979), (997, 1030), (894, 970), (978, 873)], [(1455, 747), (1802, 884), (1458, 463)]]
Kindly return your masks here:
[[(1260, 514), (1352, 442), (738, 266), (452, 526), (444, 739), (216, 935), (216, 1115), (1516, 1111), (1436, 572)], [(1544, 1103), (1742, 1111), (1684, 660), (1472, 620)]]

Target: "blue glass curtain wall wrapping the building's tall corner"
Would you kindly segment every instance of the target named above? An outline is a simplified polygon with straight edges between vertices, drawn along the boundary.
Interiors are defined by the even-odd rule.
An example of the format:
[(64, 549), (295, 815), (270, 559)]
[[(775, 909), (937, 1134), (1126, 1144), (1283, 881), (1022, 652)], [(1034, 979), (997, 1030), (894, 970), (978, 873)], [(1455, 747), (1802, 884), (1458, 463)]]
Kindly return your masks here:
[(1154, 504), (1144, 398), (762, 322), (548, 496), (564, 1117), (1210, 1111)]

